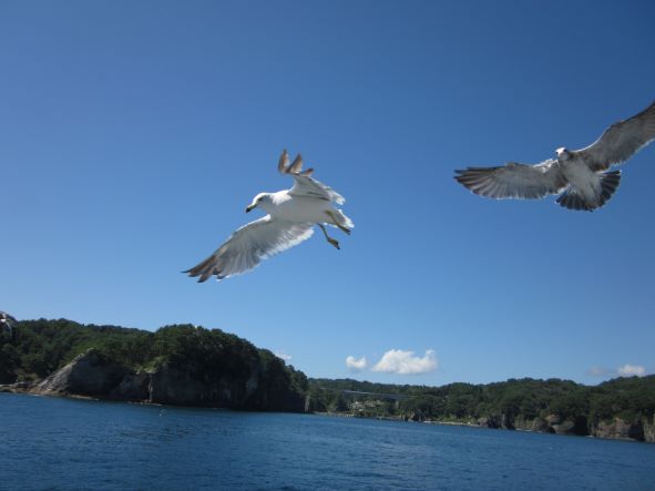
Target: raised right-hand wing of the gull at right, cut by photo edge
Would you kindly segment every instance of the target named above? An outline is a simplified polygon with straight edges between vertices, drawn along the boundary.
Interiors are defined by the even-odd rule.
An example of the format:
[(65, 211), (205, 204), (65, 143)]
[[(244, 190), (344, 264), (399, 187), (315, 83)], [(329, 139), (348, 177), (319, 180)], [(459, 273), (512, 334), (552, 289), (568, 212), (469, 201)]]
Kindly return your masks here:
[(614, 123), (590, 146), (575, 153), (584, 157), (594, 172), (621, 164), (655, 139), (655, 102), (641, 113)]

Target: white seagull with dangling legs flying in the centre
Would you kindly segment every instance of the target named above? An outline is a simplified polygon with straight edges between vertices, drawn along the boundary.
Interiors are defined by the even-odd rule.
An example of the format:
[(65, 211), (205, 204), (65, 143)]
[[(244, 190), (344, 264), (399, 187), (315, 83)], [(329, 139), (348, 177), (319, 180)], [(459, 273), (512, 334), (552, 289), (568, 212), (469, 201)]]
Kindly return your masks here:
[(344, 204), (344, 197), (313, 178), (314, 168), (303, 171), (300, 154), (289, 164), (289, 154), (285, 150), (277, 168), (294, 177), (294, 186), (277, 193), (259, 193), (246, 207), (246, 213), (259, 207), (268, 215), (237, 228), (214, 254), (184, 273), (199, 276), (198, 282), (214, 275), (216, 279), (223, 279), (246, 273), (262, 259), (311, 237), (314, 225), (318, 225), (329, 244), (339, 248), (339, 243), (328, 235), (325, 226), (338, 227), (350, 235), (352, 221), (332, 206), (332, 203)]

